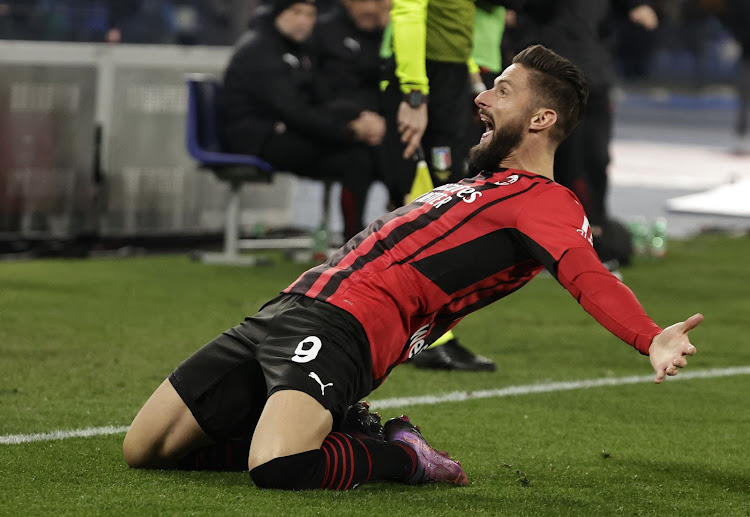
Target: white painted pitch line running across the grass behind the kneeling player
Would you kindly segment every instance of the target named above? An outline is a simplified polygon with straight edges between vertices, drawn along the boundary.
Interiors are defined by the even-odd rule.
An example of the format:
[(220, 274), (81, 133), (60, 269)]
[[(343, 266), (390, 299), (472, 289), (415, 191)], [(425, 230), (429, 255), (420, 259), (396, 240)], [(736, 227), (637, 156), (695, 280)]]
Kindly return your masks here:
[[(735, 375), (750, 375), (750, 366), (734, 366), (730, 368), (713, 368), (710, 370), (697, 370), (681, 372), (678, 376), (669, 379), (669, 382), (690, 379), (712, 379), (716, 377), (731, 377)], [(632, 375), (629, 377), (607, 377), (603, 379), (588, 379), (569, 382), (549, 382), (545, 384), (527, 384), (524, 386), (508, 386), (494, 390), (477, 391), (453, 391), (442, 395), (423, 395), (416, 397), (395, 397), (382, 400), (371, 400), (373, 409), (389, 409), (396, 407), (424, 406), (441, 404), (443, 402), (462, 402), (465, 400), (477, 400), (487, 398), (512, 397), (517, 395), (531, 395), (534, 393), (549, 393), (553, 391), (569, 391), (586, 388), (600, 388), (603, 386), (625, 386), (628, 384), (645, 384), (654, 381), (653, 375)], [(49, 433), (35, 434), (9, 434), (0, 436), (0, 445), (17, 445), (29, 442), (46, 442), (52, 440), (64, 440), (67, 438), (86, 438), (89, 436), (103, 436), (108, 434), (120, 434), (128, 430), (129, 426), (105, 426), (87, 427), (85, 429), (73, 429), (69, 431), (52, 431)]]

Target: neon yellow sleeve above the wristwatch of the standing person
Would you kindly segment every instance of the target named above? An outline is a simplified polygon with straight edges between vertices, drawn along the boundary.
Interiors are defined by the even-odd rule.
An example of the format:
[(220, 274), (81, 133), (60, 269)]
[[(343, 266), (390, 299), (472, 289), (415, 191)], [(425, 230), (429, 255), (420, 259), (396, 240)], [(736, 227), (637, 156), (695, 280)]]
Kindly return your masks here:
[(403, 93), (429, 93), (426, 38), (428, 0), (393, 0), (391, 25), (396, 77)]

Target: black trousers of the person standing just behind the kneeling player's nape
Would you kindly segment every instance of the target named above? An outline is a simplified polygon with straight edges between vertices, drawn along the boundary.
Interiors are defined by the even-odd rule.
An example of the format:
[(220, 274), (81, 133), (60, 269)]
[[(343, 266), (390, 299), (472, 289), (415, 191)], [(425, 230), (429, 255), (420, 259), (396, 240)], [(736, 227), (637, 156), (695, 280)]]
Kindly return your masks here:
[(555, 154), (555, 181), (572, 190), (592, 225), (607, 218), (607, 167), (612, 138), (609, 87), (590, 86), (586, 113)]

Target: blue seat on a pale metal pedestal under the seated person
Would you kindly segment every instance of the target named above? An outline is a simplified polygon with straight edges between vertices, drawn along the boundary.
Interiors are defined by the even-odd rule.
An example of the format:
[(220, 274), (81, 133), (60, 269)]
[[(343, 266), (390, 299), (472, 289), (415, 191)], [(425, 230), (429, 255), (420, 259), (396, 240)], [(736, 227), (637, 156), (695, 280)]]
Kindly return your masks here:
[(240, 249), (293, 249), (309, 248), (311, 238), (241, 239), (240, 191), (246, 183), (271, 182), (276, 172), (273, 165), (246, 154), (224, 151), (217, 120), (216, 99), (221, 83), (206, 74), (187, 76), (187, 150), (200, 168), (209, 169), (219, 179), (229, 183), (229, 200), (225, 213), (224, 250), (221, 253), (203, 253), (201, 259), (208, 263), (254, 265), (257, 257), (241, 255)]

